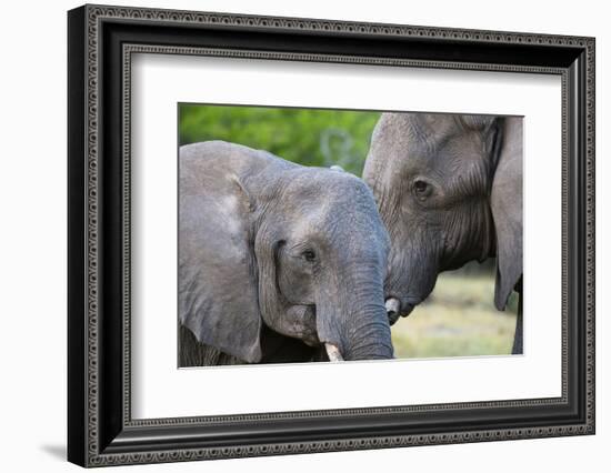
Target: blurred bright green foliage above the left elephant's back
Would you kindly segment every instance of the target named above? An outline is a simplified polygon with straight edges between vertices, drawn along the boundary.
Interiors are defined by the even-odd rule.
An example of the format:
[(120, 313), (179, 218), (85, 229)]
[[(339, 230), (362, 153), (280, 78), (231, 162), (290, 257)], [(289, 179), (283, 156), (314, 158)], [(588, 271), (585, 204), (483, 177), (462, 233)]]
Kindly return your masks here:
[(180, 144), (223, 140), (303, 165), (341, 165), (361, 175), (379, 112), (179, 105)]

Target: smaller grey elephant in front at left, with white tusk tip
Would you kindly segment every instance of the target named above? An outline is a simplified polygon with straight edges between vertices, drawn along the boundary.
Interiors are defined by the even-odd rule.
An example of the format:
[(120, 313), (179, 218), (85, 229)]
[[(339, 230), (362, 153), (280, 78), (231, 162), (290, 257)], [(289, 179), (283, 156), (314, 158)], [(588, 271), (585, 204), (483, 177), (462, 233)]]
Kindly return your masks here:
[(221, 141), (182, 147), (179, 174), (182, 361), (392, 358), (388, 234), (360, 179)]

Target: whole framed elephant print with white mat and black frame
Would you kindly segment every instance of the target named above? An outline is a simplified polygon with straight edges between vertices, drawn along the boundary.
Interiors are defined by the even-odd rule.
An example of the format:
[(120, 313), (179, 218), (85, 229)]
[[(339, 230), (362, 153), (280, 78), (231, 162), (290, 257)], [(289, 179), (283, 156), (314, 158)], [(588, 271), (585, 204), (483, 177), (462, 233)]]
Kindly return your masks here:
[(68, 13), (68, 459), (594, 433), (594, 39)]

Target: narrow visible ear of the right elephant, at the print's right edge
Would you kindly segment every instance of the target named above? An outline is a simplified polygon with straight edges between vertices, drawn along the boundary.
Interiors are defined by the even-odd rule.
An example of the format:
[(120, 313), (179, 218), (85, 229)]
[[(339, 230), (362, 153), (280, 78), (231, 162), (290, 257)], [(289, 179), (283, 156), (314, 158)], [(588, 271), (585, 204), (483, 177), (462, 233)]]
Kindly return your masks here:
[(500, 119), (490, 207), (497, 233), (494, 305), (504, 310), (522, 276), (522, 119)]

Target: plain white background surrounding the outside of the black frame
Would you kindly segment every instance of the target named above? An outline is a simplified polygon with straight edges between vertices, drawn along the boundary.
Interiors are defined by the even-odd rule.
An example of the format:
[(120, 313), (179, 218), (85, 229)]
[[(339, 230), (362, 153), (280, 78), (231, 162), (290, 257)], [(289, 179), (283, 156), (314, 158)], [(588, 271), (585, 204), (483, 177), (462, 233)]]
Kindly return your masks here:
[[(357, 467), (453, 472), (604, 471), (611, 444), (611, 31), (604, 2), (435, 0), (120, 1), (114, 4), (597, 37), (598, 433), (589, 437), (132, 466), (133, 471), (315, 472)], [(3, 471), (76, 471), (66, 449), (66, 10), (2, 7), (0, 74), (0, 463)], [(607, 88), (605, 88), (607, 85)], [(607, 465), (605, 465), (607, 464)], [(607, 466), (608, 467), (608, 466)], [(126, 467), (119, 467), (120, 471)]]

